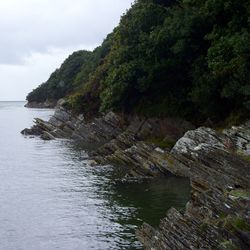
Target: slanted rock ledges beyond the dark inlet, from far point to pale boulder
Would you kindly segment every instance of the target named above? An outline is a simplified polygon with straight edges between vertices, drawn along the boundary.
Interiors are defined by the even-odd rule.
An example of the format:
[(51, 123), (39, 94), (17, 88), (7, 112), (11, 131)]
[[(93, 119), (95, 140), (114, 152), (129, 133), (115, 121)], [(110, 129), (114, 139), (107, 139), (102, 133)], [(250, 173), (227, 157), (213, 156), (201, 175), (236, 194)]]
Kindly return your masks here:
[(129, 175), (155, 176), (170, 172), (165, 168), (169, 149), (148, 143), (148, 138), (159, 137), (176, 141), (193, 126), (181, 119), (122, 117), (113, 112), (86, 121), (60, 107), (49, 121), (35, 119), (24, 135), (39, 135), (44, 140), (69, 138), (79, 140), (92, 158), (92, 164), (126, 166)]

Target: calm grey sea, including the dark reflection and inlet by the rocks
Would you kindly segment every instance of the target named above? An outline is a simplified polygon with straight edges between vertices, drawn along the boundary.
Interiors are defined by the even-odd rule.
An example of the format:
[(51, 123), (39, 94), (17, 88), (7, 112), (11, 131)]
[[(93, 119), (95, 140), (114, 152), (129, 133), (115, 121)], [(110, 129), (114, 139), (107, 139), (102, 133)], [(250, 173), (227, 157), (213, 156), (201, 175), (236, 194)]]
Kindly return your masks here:
[(0, 102), (0, 250), (142, 249), (135, 229), (158, 225), (189, 198), (185, 179), (117, 184), (119, 170), (91, 167), (73, 142), (20, 131), (52, 110)]

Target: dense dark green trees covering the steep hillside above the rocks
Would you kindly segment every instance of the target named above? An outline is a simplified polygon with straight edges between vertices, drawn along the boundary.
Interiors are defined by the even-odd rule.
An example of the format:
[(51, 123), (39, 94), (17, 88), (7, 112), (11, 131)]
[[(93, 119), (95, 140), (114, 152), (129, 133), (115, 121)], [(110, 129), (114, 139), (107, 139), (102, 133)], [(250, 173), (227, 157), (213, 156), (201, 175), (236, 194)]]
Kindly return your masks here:
[(100, 47), (73, 54), (27, 99), (69, 96), (93, 115), (249, 113), (249, 12), (245, 0), (137, 0)]

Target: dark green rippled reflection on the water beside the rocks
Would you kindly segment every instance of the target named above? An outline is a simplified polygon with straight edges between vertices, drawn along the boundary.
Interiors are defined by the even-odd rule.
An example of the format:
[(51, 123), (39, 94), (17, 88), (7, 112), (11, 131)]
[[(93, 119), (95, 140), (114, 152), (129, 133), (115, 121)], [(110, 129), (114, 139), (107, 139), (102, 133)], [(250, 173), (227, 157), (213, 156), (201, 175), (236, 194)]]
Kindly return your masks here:
[[(83, 190), (86, 191), (89, 188), (92, 195), (90, 198), (95, 200), (94, 206), (99, 206), (98, 211), (102, 218), (114, 223), (116, 229), (113, 233), (106, 232), (106, 236), (111, 241), (116, 237), (120, 238), (117, 249), (123, 249), (122, 245), (129, 246), (128, 249), (141, 249), (135, 237), (135, 229), (143, 221), (157, 227), (169, 208), (174, 206), (183, 209), (189, 198), (187, 179), (169, 177), (144, 183), (117, 182), (117, 178), (123, 172), (122, 169), (112, 166), (91, 167), (87, 164), (87, 154), (81, 147), (78, 148), (73, 142), (65, 143), (69, 151), (62, 157), (70, 158), (78, 163), (78, 166), (79, 162), (84, 165), (83, 171), (78, 167), (76, 169), (81, 179), (85, 175), (91, 183), (86, 186), (86, 180), (83, 180)], [(77, 188), (77, 185), (74, 184), (74, 187)], [(83, 190), (80, 192), (82, 193)], [(73, 190), (73, 192), (77, 191), (79, 189)], [(100, 201), (100, 204), (97, 204), (97, 201)]]

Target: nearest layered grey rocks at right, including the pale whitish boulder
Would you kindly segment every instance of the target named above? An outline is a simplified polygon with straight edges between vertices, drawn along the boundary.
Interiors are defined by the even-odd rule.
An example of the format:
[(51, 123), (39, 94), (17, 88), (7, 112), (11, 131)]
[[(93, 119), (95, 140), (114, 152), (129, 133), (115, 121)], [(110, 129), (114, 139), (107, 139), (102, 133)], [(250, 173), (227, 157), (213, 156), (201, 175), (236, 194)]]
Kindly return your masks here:
[(144, 224), (138, 230), (145, 249), (250, 248), (249, 125), (223, 133), (198, 128), (176, 143), (167, 168), (186, 166), (191, 200), (185, 212), (170, 209), (159, 229)]

